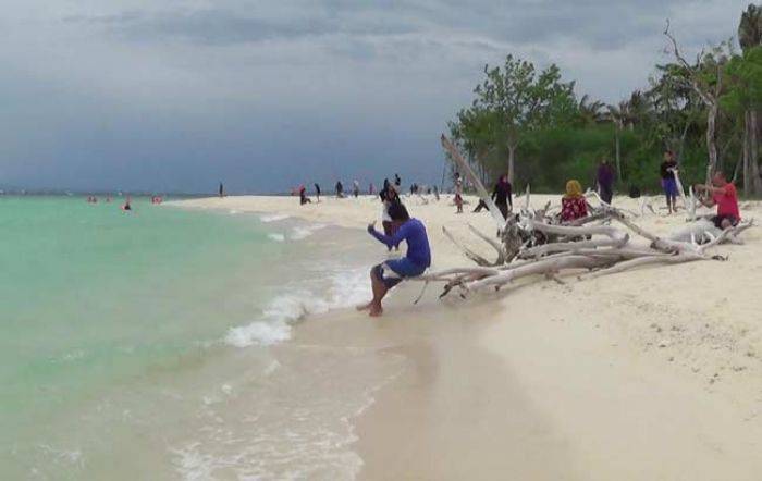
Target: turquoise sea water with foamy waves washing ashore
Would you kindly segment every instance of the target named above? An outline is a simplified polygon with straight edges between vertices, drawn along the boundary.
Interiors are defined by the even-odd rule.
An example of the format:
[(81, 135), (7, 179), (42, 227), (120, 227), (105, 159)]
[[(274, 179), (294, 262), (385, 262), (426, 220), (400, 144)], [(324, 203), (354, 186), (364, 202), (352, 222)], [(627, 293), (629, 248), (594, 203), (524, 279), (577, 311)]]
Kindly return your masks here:
[(353, 479), (352, 418), (401, 360), (290, 340), (369, 296), (378, 252), (133, 206), (0, 198), (0, 479)]

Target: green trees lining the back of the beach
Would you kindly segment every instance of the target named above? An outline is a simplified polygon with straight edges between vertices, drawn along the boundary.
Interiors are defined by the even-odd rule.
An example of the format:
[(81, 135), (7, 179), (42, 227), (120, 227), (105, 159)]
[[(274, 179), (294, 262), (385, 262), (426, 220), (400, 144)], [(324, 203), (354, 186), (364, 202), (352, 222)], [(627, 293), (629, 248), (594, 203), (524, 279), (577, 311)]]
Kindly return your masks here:
[(672, 150), (686, 183), (722, 170), (747, 196), (762, 195), (762, 5), (741, 14), (740, 50), (728, 40), (687, 59), (668, 22), (664, 40), (668, 61), (616, 104), (578, 97), (555, 64), (508, 55), (484, 67), (451, 136), (483, 182), (508, 173), (515, 185), (554, 192), (568, 178), (591, 184), (606, 158), (619, 190), (653, 192)]

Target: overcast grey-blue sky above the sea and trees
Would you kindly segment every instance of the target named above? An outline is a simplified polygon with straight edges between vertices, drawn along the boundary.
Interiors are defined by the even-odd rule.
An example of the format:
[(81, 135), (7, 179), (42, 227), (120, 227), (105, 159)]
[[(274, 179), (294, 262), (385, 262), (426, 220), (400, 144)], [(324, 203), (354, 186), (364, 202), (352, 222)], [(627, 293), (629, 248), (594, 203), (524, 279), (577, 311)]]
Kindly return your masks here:
[(439, 182), (486, 63), (555, 62), (618, 101), (736, 35), (748, 0), (9, 0), (0, 185), (272, 192)]

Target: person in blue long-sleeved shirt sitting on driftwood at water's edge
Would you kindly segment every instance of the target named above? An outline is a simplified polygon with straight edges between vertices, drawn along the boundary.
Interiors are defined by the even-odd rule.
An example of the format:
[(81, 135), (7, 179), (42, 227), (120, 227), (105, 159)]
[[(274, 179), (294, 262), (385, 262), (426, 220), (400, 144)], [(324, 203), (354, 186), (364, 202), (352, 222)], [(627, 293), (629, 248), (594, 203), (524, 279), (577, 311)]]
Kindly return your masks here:
[(374, 266), (370, 270), (370, 284), (373, 289), (373, 298), (368, 304), (358, 306), (358, 310), (367, 310), (370, 316), (378, 317), (383, 313), (381, 300), (386, 293), (400, 284), (404, 279), (421, 275), (431, 266), (431, 249), (429, 236), (423, 223), (418, 219), (411, 219), (402, 203), (394, 203), (389, 209), (392, 222), (398, 224), (394, 236), (388, 236), (376, 231), (376, 222), (368, 225), (368, 233), (386, 247), (398, 246), (405, 240), (407, 252), (402, 259), (390, 259)]

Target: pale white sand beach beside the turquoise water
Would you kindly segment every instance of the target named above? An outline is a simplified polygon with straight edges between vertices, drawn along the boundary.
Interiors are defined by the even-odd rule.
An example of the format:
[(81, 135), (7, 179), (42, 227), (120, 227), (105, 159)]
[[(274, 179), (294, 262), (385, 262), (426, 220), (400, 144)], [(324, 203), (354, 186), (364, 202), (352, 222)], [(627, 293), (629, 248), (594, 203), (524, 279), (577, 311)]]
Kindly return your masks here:
[[(551, 198), (557, 200), (531, 201), (541, 207)], [(468, 200), (467, 212), (476, 205)], [(404, 201), (427, 225), (432, 269), (470, 264), (442, 226), (490, 255), (467, 226), (491, 232), (487, 213), (455, 214), (452, 196)], [(614, 203), (639, 211), (637, 200)], [(381, 209), (374, 197), (175, 205), (353, 230), (378, 220)], [(660, 212), (637, 223), (659, 234), (685, 226), (683, 214)], [(762, 219), (762, 205), (741, 202), (741, 214)], [(383, 318), (335, 312), (330, 322), (299, 324), (292, 342), (366, 346), (410, 360), (353, 420), (361, 479), (758, 480), (761, 231), (745, 232), (745, 245), (716, 247), (728, 256), (724, 262), (566, 278), (563, 285), (534, 279), (468, 300), (439, 300), (432, 285), (414, 306), (420, 284), (406, 283)]]

